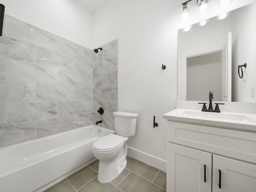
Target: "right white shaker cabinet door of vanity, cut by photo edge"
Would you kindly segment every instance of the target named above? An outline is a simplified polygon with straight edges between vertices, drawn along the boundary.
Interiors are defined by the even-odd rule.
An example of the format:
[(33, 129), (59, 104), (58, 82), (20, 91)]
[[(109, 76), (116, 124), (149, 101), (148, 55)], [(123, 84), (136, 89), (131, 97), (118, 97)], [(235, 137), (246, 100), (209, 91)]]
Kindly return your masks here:
[(212, 192), (256, 192), (256, 165), (213, 155)]

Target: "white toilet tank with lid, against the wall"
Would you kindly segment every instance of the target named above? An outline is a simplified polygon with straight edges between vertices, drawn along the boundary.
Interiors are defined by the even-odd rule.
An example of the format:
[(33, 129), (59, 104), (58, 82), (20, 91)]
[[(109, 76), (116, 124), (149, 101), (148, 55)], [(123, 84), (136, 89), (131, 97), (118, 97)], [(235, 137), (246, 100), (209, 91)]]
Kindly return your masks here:
[(135, 134), (137, 113), (113, 112), (116, 134), (131, 137)]

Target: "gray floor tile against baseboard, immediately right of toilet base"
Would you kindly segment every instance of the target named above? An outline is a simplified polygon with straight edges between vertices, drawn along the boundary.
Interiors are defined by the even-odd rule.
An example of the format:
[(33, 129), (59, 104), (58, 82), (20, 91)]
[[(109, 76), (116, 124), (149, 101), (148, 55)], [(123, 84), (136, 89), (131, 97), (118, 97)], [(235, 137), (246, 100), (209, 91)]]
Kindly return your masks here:
[(126, 168), (132, 172), (146, 178), (149, 181), (153, 181), (159, 169), (152, 167), (144, 162), (141, 162), (137, 159), (134, 159), (130, 156), (127, 156), (127, 165)]

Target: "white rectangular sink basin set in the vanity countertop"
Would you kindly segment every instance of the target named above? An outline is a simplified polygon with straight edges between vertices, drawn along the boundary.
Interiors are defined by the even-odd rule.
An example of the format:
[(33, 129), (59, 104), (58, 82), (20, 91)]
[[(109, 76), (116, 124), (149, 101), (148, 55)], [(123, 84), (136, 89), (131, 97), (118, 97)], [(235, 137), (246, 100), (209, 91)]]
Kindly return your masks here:
[(223, 120), (235, 120), (243, 122), (256, 122), (253, 118), (250, 118), (246, 115), (238, 114), (225, 114), (225, 113), (214, 113), (214, 112), (202, 112), (202, 111), (183, 111), (181, 116), (188, 116), (190, 118), (214, 118), (214, 119), (223, 119)]

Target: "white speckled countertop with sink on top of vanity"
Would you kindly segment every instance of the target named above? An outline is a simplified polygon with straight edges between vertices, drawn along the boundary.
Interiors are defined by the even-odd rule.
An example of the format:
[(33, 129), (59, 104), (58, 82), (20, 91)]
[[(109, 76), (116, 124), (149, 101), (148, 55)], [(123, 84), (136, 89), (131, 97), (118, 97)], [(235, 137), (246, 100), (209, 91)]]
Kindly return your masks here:
[(163, 118), (168, 121), (256, 132), (256, 114), (175, 109), (164, 114)]

